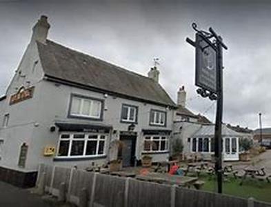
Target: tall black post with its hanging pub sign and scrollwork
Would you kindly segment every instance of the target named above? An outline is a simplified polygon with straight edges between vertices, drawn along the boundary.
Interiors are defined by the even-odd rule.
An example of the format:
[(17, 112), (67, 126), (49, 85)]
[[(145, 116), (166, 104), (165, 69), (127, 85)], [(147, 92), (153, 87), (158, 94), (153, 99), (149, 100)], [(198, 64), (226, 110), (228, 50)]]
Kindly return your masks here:
[(196, 48), (196, 86), (197, 92), (202, 97), (217, 100), (217, 115), (214, 127), (214, 157), (215, 171), (217, 174), (217, 192), (222, 193), (222, 112), (223, 112), (223, 50), (227, 46), (222, 38), (212, 28), (209, 32), (197, 29), (197, 24), (192, 23), (192, 28), (197, 31), (196, 42), (187, 38), (186, 41)]

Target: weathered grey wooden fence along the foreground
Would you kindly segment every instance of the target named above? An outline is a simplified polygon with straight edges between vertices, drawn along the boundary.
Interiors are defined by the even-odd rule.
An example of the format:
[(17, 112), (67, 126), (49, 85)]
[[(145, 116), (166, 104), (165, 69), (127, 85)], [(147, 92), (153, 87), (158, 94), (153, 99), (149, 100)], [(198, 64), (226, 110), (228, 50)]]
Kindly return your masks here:
[(39, 166), (37, 187), (42, 193), (51, 193), (80, 207), (271, 206), (253, 199), (44, 164)]

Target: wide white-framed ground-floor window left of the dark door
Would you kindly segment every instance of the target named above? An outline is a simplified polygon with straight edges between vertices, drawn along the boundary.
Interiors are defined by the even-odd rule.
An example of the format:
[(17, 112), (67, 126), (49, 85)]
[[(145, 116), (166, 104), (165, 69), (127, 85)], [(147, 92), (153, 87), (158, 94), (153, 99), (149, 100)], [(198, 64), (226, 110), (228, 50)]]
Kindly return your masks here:
[(57, 157), (95, 157), (106, 155), (107, 134), (63, 132), (59, 137)]

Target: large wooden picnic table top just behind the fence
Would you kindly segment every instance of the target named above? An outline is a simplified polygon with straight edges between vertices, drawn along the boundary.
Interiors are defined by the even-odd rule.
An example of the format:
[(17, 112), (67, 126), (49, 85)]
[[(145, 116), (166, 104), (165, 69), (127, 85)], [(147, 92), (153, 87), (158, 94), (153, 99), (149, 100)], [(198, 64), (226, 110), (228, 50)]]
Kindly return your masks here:
[(137, 175), (136, 179), (142, 181), (153, 181), (160, 184), (171, 184), (171, 185), (176, 184), (178, 186), (185, 186), (190, 188), (190, 186), (193, 185), (198, 180), (198, 177), (188, 177), (150, 172), (147, 175)]

